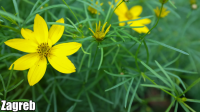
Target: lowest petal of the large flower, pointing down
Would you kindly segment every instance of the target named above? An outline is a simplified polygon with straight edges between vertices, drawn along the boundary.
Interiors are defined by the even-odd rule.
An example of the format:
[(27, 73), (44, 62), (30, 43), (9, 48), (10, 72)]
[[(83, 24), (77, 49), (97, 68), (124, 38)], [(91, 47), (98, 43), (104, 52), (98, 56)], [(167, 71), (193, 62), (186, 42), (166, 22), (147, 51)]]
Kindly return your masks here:
[(47, 68), (46, 58), (40, 58), (28, 71), (28, 83), (30, 86), (38, 83), (45, 74)]

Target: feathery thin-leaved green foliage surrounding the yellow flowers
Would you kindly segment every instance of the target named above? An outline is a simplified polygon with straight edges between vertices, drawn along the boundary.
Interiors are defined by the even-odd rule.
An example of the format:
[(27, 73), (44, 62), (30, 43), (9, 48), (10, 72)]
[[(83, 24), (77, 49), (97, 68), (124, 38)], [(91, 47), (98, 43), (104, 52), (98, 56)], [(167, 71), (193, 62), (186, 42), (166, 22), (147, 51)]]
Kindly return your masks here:
[[(36, 112), (198, 112), (200, 8), (191, 9), (192, 4), (184, 0), (129, 0), (129, 9), (141, 5), (143, 12), (141, 18), (124, 22), (152, 21), (149, 32), (139, 34), (132, 28), (144, 26), (119, 26), (115, 8), (107, 2), (0, 0), (0, 99), (33, 100)], [(100, 15), (90, 13), (89, 6)], [(168, 16), (157, 17), (153, 11), (157, 6), (166, 7)], [(63, 74), (48, 64), (44, 77), (30, 87), (28, 70), (13, 70), (14, 66), (8, 70), (25, 53), (4, 42), (22, 38), (21, 28), (33, 29), (36, 14), (49, 28), (65, 26), (58, 44), (79, 42), (82, 47), (69, 56), (75, 73)], [(55, 22), (62, 17), (64, 24)], [(107, 22), (106, 28), (111, 24), (100, 42), (89, 31), (99, 21)], [(153, 105), (160, 102), (167, 105)]]

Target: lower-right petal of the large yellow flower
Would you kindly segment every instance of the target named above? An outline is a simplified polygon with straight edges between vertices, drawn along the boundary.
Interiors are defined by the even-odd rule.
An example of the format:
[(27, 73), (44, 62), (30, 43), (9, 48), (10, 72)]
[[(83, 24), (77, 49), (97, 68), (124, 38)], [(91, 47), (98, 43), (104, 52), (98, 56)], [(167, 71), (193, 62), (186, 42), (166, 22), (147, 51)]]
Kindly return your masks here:
[(49, 63), (61, 73), (73, 73), (76, 71), (74, 64), (65, 56), (49, 55)]

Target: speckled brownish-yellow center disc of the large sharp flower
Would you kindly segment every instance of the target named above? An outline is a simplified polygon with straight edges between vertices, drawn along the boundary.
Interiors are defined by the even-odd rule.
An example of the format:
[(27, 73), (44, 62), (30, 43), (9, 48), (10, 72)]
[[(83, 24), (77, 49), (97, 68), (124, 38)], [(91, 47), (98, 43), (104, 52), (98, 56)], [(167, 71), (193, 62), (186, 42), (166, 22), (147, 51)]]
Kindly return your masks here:
[(37, 52), (41, 57), (47, 57), (50, 53), (51, 48), (48, 43), (42, 43), (38, 46)]

